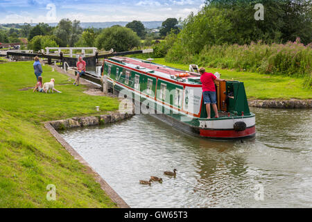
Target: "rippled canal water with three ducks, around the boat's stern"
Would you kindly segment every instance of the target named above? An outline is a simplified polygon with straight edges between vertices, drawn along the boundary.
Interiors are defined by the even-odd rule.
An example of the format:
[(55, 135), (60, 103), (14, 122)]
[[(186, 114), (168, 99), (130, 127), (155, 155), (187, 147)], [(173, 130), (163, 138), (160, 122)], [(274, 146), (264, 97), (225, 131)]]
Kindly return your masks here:
[[(61, 132), (130, 207), (312, 207), (312, 112), (252, 108), (257, 136), (213, 141), (147, 115)], [(177, 169), (175, 178), (164, 171)], [(139, 180), (162, 177), (162, 184)]]

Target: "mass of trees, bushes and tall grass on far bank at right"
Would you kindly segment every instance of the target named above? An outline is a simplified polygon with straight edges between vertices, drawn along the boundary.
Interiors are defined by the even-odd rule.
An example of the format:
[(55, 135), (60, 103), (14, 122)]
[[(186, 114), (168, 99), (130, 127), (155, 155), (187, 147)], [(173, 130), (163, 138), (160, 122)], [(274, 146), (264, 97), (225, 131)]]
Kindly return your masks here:
[[(309, 83), (311, 45), (304, 46), (300, 38), (295, 42), (273, 44), (292, 40), (293, 35), (303, 36), (305, 44), (311, 41), (311, 23), (306, 22), (311, 6), (310, 14), (306, 13), (306, 0), (263, 1), (264, 21), (254, 19), (254, 5), (258, 1), (211, 0), (207, 3), (197, 15), (191, 13), (184, 20), (166, 61), (194, 62), (261, 74), (306, 76)], [(284, 28), (288, 26), (288, 13), (296, 17), (297, 26), (304, 31), (295, 28), (292, 35), (287, 34)], [(297, 17), (305, 18), (298, 20)]]

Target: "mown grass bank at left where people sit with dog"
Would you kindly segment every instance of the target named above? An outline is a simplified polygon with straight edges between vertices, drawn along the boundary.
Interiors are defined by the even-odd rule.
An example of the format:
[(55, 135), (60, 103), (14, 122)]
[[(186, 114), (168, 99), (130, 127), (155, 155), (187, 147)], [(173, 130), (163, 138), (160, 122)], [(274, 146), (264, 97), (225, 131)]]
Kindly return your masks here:
[[(19, 91), (35, 85), (32, 64), (0, 65), (0, 207), (116, 207), (42, 121), (90, 116), (96, 105), (105, 113), (119, 102), (84, 94), (83, 86), (73, 86), (49, 66), (43, 67), (44, 82), (55, 78), (62, 94)], [(46, 200), (49, 184), (56, 187), (56, 201)]]

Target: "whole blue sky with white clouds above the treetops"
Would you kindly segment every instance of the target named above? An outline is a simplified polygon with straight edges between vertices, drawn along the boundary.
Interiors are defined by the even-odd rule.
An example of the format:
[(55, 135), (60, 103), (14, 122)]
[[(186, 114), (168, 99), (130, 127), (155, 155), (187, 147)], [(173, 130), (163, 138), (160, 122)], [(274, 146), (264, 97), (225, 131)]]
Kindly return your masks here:
[(164, 21), (197, 13), (204, 0), (0, 0), (0, 24), (59, 22)]

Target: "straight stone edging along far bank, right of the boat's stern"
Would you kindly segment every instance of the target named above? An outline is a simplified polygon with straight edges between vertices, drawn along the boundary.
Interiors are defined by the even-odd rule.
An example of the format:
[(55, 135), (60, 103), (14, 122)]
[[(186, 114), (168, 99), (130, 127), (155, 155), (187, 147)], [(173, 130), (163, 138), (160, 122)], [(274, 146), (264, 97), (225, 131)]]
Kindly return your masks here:
[(291, 100), (248, 100), (248, 104), (258, 108), (312, 108), (312, 99)]

